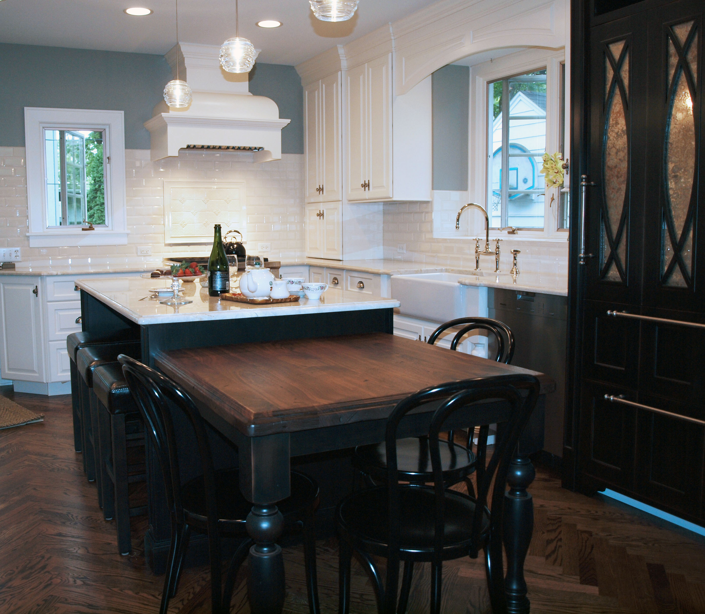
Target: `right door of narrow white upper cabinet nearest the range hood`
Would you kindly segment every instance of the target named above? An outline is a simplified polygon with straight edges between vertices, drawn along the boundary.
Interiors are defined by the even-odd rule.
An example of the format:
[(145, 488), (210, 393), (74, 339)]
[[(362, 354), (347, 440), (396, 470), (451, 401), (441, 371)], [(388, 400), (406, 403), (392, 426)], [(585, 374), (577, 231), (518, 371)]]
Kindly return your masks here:
[(343, 142), (341, 127), (343, 113), (341, 107), (341, 73), (334, 73), (321, 79), (321, 155), (319, 168), (324, 202), (343, 199), (343, 166), (341, 154)]

